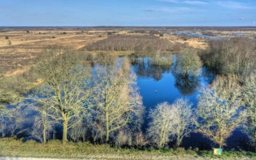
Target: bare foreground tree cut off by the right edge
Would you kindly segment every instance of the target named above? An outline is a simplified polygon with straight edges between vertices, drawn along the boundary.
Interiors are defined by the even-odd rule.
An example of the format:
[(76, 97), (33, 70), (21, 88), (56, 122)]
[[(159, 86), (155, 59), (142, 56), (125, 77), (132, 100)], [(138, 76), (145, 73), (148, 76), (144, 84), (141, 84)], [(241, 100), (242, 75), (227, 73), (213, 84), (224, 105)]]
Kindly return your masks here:
[(246, 132), (256, 150), (256, 77), (252, 74), (243, 88), (243, 100), (248, 115)]

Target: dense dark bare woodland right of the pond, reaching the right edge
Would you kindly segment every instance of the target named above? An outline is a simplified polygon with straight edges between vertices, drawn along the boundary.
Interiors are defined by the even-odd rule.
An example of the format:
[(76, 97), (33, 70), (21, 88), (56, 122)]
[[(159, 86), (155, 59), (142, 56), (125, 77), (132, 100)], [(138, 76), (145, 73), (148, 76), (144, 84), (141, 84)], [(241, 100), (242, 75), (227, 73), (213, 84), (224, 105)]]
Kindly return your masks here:
[(200, 56), (211, 71), (236, 76), (241, 83), (256, 69), (256, 43), (250, 38), (210, 40)]

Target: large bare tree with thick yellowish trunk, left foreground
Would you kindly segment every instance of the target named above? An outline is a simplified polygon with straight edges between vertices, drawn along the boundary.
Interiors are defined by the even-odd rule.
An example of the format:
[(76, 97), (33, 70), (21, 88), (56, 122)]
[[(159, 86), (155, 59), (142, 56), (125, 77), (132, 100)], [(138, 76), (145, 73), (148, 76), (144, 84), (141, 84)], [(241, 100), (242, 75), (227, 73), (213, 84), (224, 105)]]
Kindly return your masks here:
[(60, 116), (65, 143), (68, 129), (82, 120), (88, 109), (90, 68), (83, 54), (63, 49), (47, 49), (45, 53), (47, 57), (36, 65), (35, 72), (47, 88), (44, 95), (51, 97)]

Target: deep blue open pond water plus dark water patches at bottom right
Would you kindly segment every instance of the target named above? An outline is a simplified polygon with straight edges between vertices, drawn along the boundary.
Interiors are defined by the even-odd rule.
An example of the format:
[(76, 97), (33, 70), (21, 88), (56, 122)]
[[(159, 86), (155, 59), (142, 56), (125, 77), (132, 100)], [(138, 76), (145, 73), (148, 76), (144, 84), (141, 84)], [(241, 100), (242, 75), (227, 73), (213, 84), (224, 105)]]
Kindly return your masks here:
[[(211, 83), (215, 77), (202, 66), (197, 68), (194, 66), (184, 74), (186, 68), (179, 65), (179, 61), (183, 61), (179, 58), (179, 54), (173, 55), (172, 63), (168, 65), (152, 64), (154, 58), (151, 57), (136, 57), (131, 60), (131, 68), (137, 76), (137, 84), (143, 97), (143, 105), (146, 108), (143, 131), (147, 129), (147, 115), (150, 109), (154, 109), (161, 102), (172, 104), (175, 99), (180, 97), (189, 99), (190, 102), (193, 102), (193, 108), (196, 108), (198, 88)], [(236, 129), (228, 138), (226, 148), (250, 150), (246, 141), (248, 141), (246, 135), (241, 129)], [(200, 133), (191, 133), (190, 137), (184, 138), (182, 147), (211, 149), (214, 147), (214, 143)]]

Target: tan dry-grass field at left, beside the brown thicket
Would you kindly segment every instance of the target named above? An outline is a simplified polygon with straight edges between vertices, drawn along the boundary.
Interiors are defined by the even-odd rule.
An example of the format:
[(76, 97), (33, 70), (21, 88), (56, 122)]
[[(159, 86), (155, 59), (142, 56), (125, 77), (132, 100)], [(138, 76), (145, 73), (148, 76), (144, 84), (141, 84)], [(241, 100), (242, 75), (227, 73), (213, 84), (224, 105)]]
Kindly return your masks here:
[[(40, 33), (40, 34), (39, 34)], [(107, 37), (106, 31), (10, 31), (0, 33), (0, 70), (14, 76), (27, 70), (33, 60), (49, 45), (80, 49)], [(6, 40), (8, 36), (8, 40)], [(54, 38), (55, 37), (55, 38)], [(11, 42), (11, 43), (9, 43)]]

